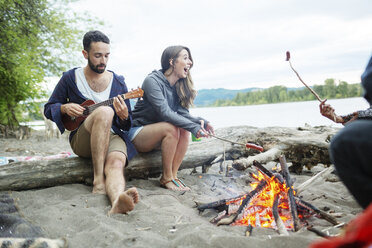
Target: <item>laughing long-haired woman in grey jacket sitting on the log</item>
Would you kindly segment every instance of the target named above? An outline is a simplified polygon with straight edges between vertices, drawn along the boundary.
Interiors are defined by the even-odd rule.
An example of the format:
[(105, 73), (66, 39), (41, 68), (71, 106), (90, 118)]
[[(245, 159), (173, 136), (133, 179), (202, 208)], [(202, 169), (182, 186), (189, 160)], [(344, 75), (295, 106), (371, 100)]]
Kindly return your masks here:
[(177, 177), (186, 154), (190, 133), (196, 137), (214, 134), (213, 127), (203, 118), (189, 114), (196, 96), (190, 69), (193, 65), (190, 50), (170, 46), (161, 57), (161, 70), (150, 73), (143, 82), (143, 100), (133, 110), (133, 127), (129, 132), (139, 152), (161, 147), (163, 174), (160, 184), (179, 191), (190, 190)]

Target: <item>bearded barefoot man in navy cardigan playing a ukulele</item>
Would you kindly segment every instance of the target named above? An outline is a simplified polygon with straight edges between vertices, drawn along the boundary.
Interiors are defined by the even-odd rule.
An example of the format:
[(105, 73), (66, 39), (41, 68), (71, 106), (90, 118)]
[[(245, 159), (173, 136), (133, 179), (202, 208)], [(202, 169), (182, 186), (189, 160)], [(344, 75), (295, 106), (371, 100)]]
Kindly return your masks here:
[(122, 76), (107, 71), (110, 40), (100, 31), (84, 35), (83, 55), (87, 60), (84, 68), (74, 68), (63, 73), (44, 114), (54, 121), (61, 133), (65, 127), (62, 116), (76, 118), (85, 110), (80, 104), (91, 99), (96, 103), (114, 98), (113, 106), (100, 106), (70, 134), (72, 150), (81, 157), (92, 158), (93, 193), (106, 194), (111, 201), (110, 214), (127, 213), (138, 202), (136, 188), (125, 190), (124, 167), (127, 159), (135, 155), (135, 148), (128, 139), (132, 123), (129, 100), (120, 94), (127, 86)]

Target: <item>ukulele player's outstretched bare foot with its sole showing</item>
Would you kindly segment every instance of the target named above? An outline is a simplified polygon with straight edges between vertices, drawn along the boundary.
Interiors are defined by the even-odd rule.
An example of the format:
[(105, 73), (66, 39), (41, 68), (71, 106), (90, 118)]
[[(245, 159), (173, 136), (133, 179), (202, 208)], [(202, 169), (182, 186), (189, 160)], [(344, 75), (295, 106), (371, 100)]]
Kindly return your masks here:
[(127, 191), (121, 193), (119, 197), (112, 204), (111, 210), (108, 215), (111, 214), (125, 214), (134, 209), (134, 205), (138, 203), (139, 196), (136, 188), (130, 188)]

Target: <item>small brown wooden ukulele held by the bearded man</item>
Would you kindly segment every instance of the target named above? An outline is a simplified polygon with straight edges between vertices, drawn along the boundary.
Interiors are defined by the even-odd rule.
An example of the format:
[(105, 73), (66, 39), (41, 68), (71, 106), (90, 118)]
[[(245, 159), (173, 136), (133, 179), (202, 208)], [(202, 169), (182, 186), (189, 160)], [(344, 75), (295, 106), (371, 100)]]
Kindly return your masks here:
[[(125, 94), (122, 94), (121, 97), (123, 97), (124, 100), (126, 99), (132, 99), (132, 98), (139, 98), (143, 96), (143, 90), (141, 88), (132, 90), (130, 92), (127, 92)], [(114, 98), (110, 98), (106, 101), (95, 103), (93, 100), (86, 100), (80, 106), (84, 107), (85, 110), (83, 111), (83, 115), (78, 117), (71, 117), (67, 114), (62, 115), (62, 123), (63, 126), (69, 130), (73, 131), (76, 128), (79, 127), (80, 123), (83, 122), (89, 114), (91, 114), (96, 108), (100, 106), (109, 106), (112, 105), (114, 102)]]

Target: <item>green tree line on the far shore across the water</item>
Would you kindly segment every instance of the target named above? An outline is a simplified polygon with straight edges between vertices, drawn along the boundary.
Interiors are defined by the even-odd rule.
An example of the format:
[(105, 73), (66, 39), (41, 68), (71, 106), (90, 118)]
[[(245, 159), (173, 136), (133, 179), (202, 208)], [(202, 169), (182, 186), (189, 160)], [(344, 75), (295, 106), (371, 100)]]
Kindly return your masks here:
[[(336, 85), (334, 79), (326, 79), (324, 85), (314, 85), (312, 88), (321, 99), (358, 97), (363, 94), (363, 89), (360, 84), (348, 84), (345, 81), (340, 81), (338, 85)], [(243, 106), (311, 100), (316, 100), (316, 98), (305, 87), (289, 89), (285, 86), (273, 86), (263, 90), (237, 93), (231, 100), (220, 99), (210, 106)]]

